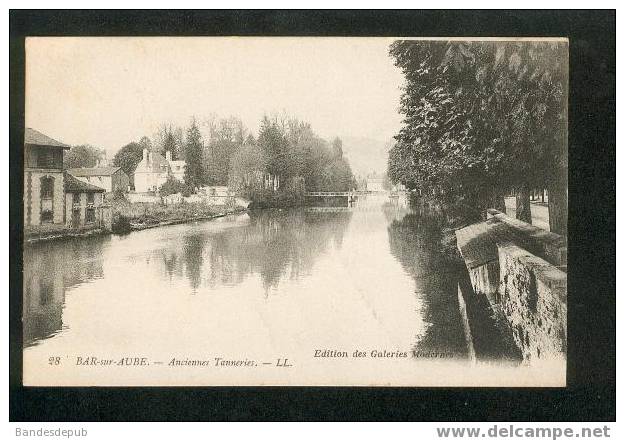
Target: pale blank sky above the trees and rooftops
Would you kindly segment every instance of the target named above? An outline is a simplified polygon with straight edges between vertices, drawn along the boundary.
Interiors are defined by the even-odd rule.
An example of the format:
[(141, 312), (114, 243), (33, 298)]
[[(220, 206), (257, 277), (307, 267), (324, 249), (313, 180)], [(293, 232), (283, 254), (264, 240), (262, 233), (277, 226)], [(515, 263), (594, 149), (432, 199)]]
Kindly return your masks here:
[(26, 41), (26, 126), (112, 155), (161, 124), (286, 113), (320, 136), (387, 141), (401, 72), (388, 38), (61, 37)]

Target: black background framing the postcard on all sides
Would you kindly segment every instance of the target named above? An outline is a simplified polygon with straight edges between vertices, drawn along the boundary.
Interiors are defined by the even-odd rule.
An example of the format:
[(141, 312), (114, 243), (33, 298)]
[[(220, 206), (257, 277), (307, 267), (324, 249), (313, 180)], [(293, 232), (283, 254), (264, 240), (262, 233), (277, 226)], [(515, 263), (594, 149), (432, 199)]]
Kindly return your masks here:
[[(69, 35), (569, 37), (568, 386), (22, 387), (24, 37)], [(614, 421), (615, 52), (615, 11), (11, 11), (10, 420)]]

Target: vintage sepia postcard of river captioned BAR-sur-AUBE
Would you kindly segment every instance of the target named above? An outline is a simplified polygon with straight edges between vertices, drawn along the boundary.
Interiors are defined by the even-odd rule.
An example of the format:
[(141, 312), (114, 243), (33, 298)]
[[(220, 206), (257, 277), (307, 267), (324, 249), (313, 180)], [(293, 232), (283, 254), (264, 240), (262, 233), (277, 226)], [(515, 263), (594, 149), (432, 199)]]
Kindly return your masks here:
[(26, 386), (565, 386), (564, 38), (26, 39)]

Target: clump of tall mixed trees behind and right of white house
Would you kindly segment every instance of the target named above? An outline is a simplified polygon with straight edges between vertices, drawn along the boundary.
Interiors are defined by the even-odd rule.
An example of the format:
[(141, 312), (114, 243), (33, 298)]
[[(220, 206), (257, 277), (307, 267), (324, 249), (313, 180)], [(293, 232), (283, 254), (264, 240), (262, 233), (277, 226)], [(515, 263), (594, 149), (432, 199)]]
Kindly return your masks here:
[(144, 148), (163, 156), (169, 151), (186, 162), (184, 183), (170, 178), (161, 194), (227, 185), (258, 205), (287, 206), (303, 202), (305, 191), (348, 191), (357, 185), (339, 138), (329, 143), (310, 124), (288, 117), (264, 116), (257, 139), (236, 117), (193, 119), (185, 136), (181, 128), (164, 124), (154, 141), (143, 137), (122, 147), (115, 164), (132, 175)]

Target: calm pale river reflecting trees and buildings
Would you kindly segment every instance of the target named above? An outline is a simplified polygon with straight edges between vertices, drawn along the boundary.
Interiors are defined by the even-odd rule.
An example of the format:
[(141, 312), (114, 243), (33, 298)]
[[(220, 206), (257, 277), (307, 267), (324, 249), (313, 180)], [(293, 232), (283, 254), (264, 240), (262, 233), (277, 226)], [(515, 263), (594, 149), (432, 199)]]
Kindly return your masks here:
[[(434, 218), (381, 194), (29, 245), (24, 382), (418, 384), (417, 361), (467, 359), (442, 239)], [(333, 353), (350, 360), (321, 356)], [(216, 358), (254, 367), (170, 366)]]

